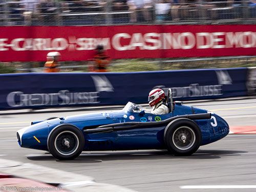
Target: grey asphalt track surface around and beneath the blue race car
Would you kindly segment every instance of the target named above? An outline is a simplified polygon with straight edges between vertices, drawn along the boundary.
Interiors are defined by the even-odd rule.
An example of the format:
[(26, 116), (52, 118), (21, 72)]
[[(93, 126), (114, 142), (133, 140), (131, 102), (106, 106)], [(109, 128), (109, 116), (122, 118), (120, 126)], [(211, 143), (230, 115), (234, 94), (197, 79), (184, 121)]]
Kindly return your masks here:
[[(255, 97), (184, 104), (211, 110), (231, 126), (256, 125)], [(16, 131), (30, 121), (117, 109), (120, 107), (0, 111), (0, 158), (88, 175), (96, 182), (141, 192), (256, 191), (256, 135), (253, 134), (228, 135), (201, 146), (189, 157), (175, 157), (158, 150), (83, 152), (72, 161), (58, 161), (49, 153), (20, 148), (16, 142)]]

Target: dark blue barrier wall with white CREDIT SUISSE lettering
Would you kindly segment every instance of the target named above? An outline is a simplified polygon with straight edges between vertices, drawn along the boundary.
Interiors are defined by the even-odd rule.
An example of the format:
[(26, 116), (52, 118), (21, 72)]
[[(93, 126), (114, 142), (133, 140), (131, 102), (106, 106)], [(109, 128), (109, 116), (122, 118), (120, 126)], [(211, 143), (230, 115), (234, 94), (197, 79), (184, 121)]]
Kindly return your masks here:
[(153, 88), (172, 88), (174, 100), (244, 96), (247, 68), (132, 73), (0, 75), (0, 109), (146, 103)]

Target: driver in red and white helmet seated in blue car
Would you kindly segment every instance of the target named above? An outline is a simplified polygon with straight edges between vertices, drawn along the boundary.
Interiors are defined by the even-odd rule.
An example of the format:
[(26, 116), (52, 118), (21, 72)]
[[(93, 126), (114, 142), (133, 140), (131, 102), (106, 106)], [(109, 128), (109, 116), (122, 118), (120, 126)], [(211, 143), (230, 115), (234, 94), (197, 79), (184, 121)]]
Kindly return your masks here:
[(154, 89), (148, 94), (148, 104), (153, 106), (151, 111), (154, 115), (164, 115), (169, 112), (168, 107), (164, 103), (165, 94), (161, 89)]

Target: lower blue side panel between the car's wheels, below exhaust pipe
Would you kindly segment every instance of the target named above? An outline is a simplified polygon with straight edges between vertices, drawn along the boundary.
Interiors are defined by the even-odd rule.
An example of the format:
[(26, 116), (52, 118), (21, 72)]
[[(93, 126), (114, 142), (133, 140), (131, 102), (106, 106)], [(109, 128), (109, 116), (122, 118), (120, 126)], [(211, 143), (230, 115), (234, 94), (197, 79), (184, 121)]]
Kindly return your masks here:
[(84, 151), (146, 150), (164, 148), (165, 126), (88, 134)]

